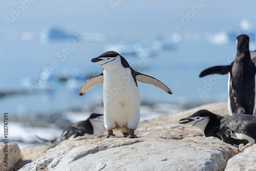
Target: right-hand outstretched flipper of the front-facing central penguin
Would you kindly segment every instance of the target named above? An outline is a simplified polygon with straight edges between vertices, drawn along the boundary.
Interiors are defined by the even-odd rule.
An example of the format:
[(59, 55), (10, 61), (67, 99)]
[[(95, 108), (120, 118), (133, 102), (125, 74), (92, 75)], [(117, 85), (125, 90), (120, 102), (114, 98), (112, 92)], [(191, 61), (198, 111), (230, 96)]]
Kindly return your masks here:
[(159, 81), (158, 79), (148, 76), (148, 75), (145, 75), (145, 74), (141, 74), (134, 70), (133, 70), (133, 72), (135, 73), (135, 75), (136, 75), (135, 78), (138, 81), (147, 83), (147, 84), (152, 84), (152, 85), (162, 89), (163, 91), (167, 92), (168, 94), (173, 94), (172, 91), (170, 91), (170, 89), (167, 86), (165, 86), (165, 84), (162, 83), (161, 81)]

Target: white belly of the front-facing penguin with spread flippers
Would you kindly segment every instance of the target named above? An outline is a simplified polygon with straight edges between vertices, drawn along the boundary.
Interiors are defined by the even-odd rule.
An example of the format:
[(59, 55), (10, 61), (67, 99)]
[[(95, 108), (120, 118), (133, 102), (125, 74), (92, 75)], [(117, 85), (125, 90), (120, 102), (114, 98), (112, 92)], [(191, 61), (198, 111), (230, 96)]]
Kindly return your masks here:
[(130, 68), (104, 71), (103, 103), (106, 130), (115, 127), (136, 129), (140, 119), (139, 89)]

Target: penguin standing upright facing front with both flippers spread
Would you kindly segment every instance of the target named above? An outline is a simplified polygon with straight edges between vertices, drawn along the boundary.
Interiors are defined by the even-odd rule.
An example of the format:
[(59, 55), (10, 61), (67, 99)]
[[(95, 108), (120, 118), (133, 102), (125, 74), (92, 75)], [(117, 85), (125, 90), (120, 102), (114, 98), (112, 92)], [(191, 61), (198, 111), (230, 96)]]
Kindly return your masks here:
[(172, 91), (156, 78), (134, 71), (117, 52), (105, 52), (93, 58), (92, 62), (101, 65), (103, 72), (84, 82), (79, 95), (103, 83), (104, 125), (108, 130), (106, 138), (116, 137), (113, 130), (120, 130), (124, 137), (137, 137), (134, 131), (140, 120), (140, 96), (136, 80), (153, 84), (169, 94)]

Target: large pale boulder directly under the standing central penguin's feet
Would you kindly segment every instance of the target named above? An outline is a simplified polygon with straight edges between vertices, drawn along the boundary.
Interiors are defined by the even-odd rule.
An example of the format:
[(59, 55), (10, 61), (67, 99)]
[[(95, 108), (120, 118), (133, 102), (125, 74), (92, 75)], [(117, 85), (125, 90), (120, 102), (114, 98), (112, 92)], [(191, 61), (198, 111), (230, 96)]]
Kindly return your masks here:
[(61, 143), (20, 170), (224, 170), (237, 153), (236, 147), (214, 137), (176, 140), (182, 135), (168, 135), (173, 127), (183, 126), (156, 126), (138, 131), (135, 139), (80, 138)]

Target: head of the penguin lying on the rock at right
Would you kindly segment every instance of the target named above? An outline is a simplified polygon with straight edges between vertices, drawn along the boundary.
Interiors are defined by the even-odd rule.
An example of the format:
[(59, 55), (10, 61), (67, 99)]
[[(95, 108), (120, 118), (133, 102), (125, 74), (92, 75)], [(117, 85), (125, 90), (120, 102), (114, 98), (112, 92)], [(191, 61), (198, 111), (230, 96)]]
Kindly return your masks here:
[(215, 115), (215, 114), (213, 114), (207, 110), (200, 110), (200, 111), (194, 113), (193, 115), (190, 115), (187, 118), (183, 118), (183, 119), (179, 120), (179, 123), (180, 124), (190, 124), (190, 125), (196, 126), (199, 129), (201, 129), (203, 132), (203, 130), (209, 123), (212, 115)]

